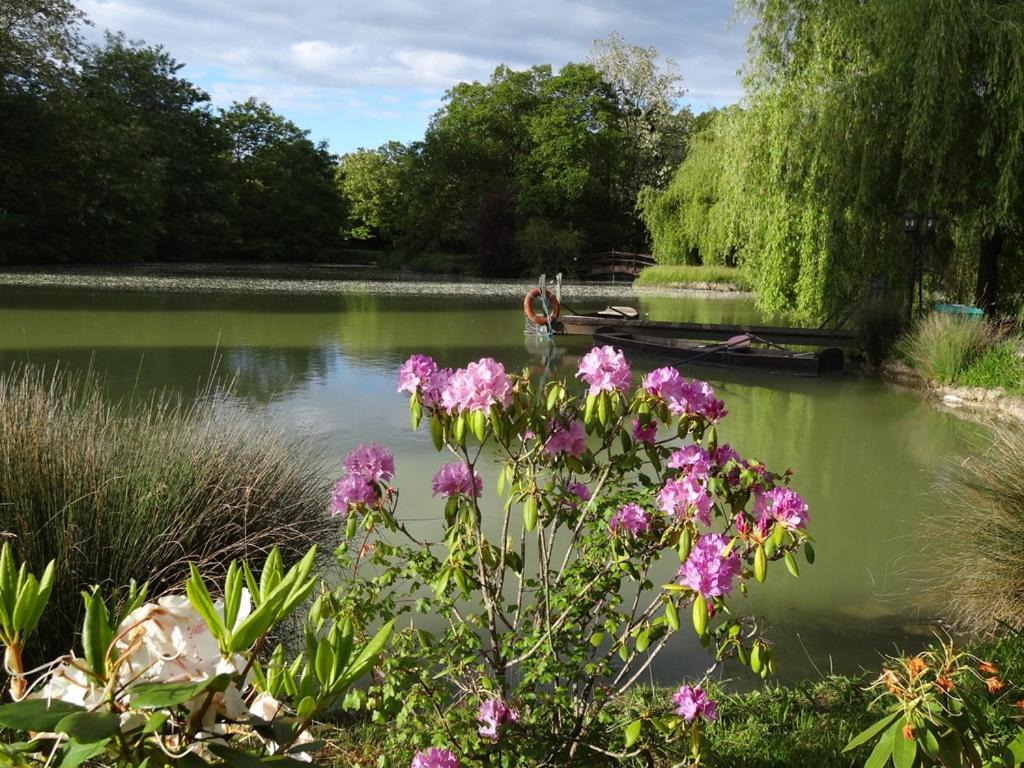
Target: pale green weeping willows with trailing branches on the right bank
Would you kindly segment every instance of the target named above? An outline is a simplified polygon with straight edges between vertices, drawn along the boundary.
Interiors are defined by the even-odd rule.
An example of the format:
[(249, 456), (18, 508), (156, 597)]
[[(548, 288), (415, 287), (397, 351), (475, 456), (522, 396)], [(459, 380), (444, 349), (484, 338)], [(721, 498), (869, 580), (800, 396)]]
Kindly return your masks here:
[(739, 264), (806, 321), (908, 299), (904, 211), (934, 213), (926, 285), (990, 312), (1024, 295), (1024, 2), (741, 0), (746, 97), (641, 197), (669, 263)]

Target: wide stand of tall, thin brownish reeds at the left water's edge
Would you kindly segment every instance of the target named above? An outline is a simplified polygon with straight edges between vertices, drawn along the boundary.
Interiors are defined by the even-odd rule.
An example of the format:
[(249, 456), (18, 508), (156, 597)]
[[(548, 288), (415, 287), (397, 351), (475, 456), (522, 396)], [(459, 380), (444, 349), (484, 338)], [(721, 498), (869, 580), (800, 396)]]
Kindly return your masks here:
[(31, 568), (56, 560), (42, 658), (71, 647), (90, 585), (159, 595), (189, 561), (216, 577), (273, 545), (292, 561), (336, 527), (315, 444), (213, 388), (115, 403), (93, 375), (18, 368), (0, 377), (0, 531)]

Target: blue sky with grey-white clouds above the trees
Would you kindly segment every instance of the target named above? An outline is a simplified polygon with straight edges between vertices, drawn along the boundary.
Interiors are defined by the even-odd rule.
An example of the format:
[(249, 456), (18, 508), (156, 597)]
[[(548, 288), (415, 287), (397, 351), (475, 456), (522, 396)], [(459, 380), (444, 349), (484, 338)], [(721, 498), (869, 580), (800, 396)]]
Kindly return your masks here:
[(677, 61), (695, 112), (737, 101), (732, 0), (82, 0), (93, 27), (162, 44), (216, 106), (267, 101), (332, 152), (423, 137), (444, 91), (586, 60), (612, 32)]

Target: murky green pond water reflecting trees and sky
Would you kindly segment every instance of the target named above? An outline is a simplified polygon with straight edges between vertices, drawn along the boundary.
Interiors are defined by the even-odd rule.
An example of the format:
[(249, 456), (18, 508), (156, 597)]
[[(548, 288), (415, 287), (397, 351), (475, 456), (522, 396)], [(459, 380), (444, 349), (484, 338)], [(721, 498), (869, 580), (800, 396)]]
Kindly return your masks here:
[[(501, 295), (496, 295), (501, 294)], [(655, 319), (756, 319), (745, 298), (567, 296), (581, 311), (632, 304)], [(570, 377), (588, 339), (559, 339), (550, 373)], [(31, 361), (93, 367), (113, 396), (172, 387), (191, 395), (211, 370), (237, 376), (238, 397), (325, 441), (339, 460), (360, 441), (395, 454), (400, 512), (436, 524), (429, 495), (439, 459), (414, 433), (395, 373), (413, 352), (458, 367), (487, 355), (506, 367), (545, 369), (545, 346), (524, 337), (516, 291), (453, 287), (414, 293), (261, 293), (0, 287), (0, 368)], [(634, 357), (643, 373), (662, 364)], [(780, 676), (878, 667), (881, 652), (932, 632), (921, 531), (941, 522), (934, 492), (944, 466), (970, 451), (977, 428), (915, 395), (853, 375), (824, 380), (682, 369), (710, 381), (729, 415), (720, 435), (741, 455), (792, 467), (811, 506), (813, 566), (799, 580), (774, 568), (739, 610), (764, 620)], [(488, 489), (494, 477), (485, 475)], [(664, 579), (678, 563), (666, 564)], [(654, 667), (675, 680), (707, 667), (682, 637)]]

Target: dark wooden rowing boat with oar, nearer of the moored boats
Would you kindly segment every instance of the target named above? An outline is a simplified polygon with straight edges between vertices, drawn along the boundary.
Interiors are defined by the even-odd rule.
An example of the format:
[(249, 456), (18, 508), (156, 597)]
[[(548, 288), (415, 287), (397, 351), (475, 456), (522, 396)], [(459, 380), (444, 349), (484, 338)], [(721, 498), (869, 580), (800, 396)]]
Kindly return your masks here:
[(594, 341), (677, 364), (727, 366), (797, 376), (822, 376), (843, 370), (843, 350), (837, 347), (798, 352), (774, 345), (755, 346), (761, 339), (752, 334), (700, 344), (688, 339), (650, 335), (646, 330), (612, 326), (595, 329)]

